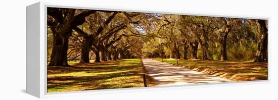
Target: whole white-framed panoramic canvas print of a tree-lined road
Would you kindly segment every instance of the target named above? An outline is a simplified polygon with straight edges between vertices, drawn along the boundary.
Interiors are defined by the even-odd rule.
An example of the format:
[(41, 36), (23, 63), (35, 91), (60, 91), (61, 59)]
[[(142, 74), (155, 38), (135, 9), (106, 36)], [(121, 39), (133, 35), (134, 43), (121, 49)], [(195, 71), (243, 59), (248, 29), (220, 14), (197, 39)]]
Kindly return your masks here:
[(269, 18), (49, 3), (26, 12), (26, 90), (37, 97), (269, 79)]

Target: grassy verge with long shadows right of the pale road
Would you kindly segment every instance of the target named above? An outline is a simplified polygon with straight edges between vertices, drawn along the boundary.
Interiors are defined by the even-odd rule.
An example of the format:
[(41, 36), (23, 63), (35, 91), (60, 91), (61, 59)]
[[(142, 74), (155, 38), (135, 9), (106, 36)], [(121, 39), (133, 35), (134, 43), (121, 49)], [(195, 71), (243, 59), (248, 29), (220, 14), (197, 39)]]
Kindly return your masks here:
[[(153, 60), (162, 62), (162, 58)], [(163, 62), (235, 81), (267, 80), (267, 62), (175, 59)]]

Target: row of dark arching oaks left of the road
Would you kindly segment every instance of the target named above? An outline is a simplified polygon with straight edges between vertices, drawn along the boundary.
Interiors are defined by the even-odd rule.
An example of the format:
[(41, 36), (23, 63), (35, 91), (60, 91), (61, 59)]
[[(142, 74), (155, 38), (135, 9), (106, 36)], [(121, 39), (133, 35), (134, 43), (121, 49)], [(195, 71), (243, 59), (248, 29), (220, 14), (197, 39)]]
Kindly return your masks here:
[(95, 62), (117, 60), (119, 55), (141, 57), (145, 35), (135, 28), (140, 17), (140, 13), (48, 8), (49, 66), (69, 66), (68, 59), (89, 63), (91, 57)]

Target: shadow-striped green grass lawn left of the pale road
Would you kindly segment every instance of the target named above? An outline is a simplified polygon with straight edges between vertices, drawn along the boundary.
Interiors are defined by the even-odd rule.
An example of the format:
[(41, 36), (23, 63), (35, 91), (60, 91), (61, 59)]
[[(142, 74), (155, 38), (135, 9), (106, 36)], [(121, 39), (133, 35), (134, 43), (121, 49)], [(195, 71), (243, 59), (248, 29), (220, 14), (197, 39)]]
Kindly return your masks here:
[(48, 92), (144, 87), (140, 59), (48, 67)]

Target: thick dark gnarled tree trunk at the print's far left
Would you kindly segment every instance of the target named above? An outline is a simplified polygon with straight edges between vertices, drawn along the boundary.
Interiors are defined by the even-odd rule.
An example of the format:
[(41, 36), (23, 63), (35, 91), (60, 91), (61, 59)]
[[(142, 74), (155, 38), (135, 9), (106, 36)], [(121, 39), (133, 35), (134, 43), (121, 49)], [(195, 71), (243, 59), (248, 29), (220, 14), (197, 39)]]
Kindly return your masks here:
[[(53, 16), (59, 24), (53, 24), (54, 21), (49, 21), (53, 33), (53, 48), (50, 63), (48, 66), (69, 66), (67, 60), (68, 52), (68, 41), (69, 36), (72, 34), (72, 22), (74, 19), (75, 9), (63, 9), (61, 13), (54, 13), (55, 10), (49, 9), (48, 15)], [(57, 16), (59, 15), (59, 18)], [(58, 20), (59, 19), (59, 20)], [(62, 22), (62, 23), (61, 23)]]

